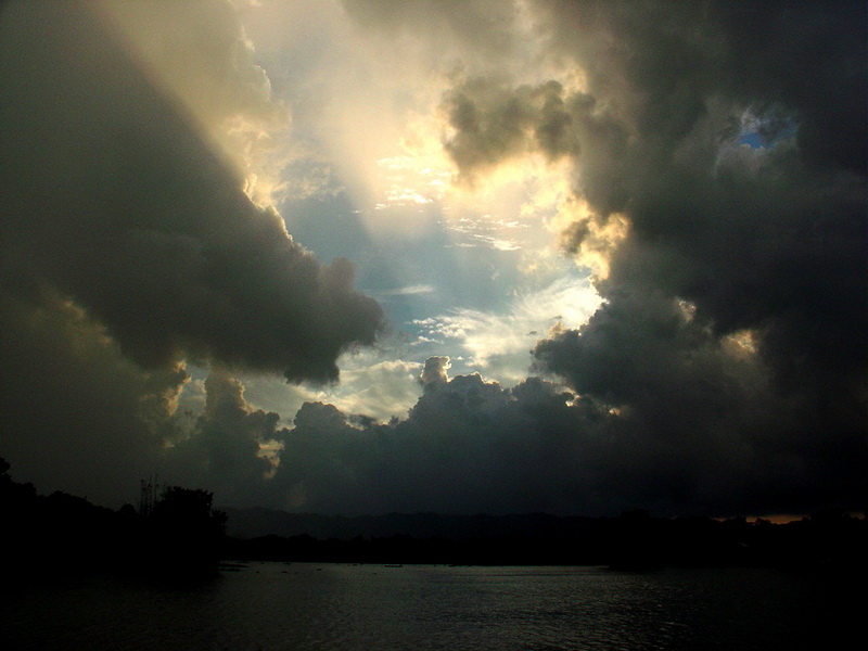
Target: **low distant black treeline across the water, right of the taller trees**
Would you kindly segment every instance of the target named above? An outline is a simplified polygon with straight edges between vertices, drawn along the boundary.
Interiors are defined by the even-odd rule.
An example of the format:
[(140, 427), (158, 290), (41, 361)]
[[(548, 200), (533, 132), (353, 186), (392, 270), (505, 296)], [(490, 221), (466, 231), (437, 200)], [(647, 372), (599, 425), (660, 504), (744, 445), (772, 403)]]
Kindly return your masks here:
[[(230, 515), (231, 516), (231, 515)], [(318, 519), (323, 525), (322, 519)], [(335, 519), (352, 531), (356, 519)], [(315, 538), (267, 534), (228, 538), (235, 559), (456, 565), (607, 565), (613, 570), (686, 566), (865, 569), (868, 520), (826, 511), (787, 524), (744, 518), (616, 518), (548, 514), (365, 516), (358, 524), (392, 528), (386, 535)], [(403, 523), (405, 526), (396, 526)], [(410, 531), (450, 532), (411, 535)]]

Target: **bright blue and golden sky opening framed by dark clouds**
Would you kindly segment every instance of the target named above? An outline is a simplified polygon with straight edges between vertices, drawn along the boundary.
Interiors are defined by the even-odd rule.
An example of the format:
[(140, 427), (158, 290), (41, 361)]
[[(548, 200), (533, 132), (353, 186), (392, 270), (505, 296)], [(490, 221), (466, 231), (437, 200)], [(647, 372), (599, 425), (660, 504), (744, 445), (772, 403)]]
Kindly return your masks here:
[[(315, 399), (385, 420), (414, 404), (430, 356), (449, 357), (452, 374), (526, 378), (535, 343), (599, 305), (588, 269), (559, 252), (553, 232), (569, 166), (528, 155), (460, 183), (441, 110), (455, 62), (437, 58), (444, 67), (432, 69), (410, 43), (400, 60), (384, 58), (336, 3), (297, 11), (318, 29), (298, 33), (292, 12), (268, 2), (241, 8), (256, 62), (292, 113), (276, 207), (318, 258), (353, 261), (391, 331), (378, 348), (341, 358), (339, 384), (245, 378), (247, 399), (281, 414)], [(513, 75), (533, 82), (551, 71)]]

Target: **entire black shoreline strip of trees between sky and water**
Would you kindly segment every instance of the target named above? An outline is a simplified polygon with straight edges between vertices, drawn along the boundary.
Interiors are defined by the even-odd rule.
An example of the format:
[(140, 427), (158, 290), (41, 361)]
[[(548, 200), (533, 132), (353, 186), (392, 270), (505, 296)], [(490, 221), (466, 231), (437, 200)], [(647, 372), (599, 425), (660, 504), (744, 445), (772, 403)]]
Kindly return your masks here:
[[(218, 561), (483, 565), (784, 566), (864, 572), (868, 519), (824, 512), (789, 524), (744, 518), (392, 514), (329, 518), (251, 509), (227, 515), (212, 494), (142, 482), (139, 508), (117, 511), (65, 493), (39, 495), (0, 459), (0, 537), (16, 566), (188, 577)], [(283, 534), (283, 535), (277, 535)], [(20, 563), (18, 561), (30, 561)], [(33, 562), (37, 561), (37, 562)]]

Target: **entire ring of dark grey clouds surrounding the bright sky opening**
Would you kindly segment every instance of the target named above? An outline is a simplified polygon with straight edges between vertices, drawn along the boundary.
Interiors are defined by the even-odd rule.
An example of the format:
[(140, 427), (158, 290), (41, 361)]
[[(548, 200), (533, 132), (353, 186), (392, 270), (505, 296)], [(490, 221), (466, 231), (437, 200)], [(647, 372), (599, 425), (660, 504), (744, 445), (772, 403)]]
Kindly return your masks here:
[[(454, 29), (457, 50), (458, 8), (485, 15), (348, 4), (386, 38)], [(469, 179), (527, 153), (567, 161), (591, 214), (564, 251), (630, 225), (597, 281), (605, 303), (537, 344), (547, 380), (449, 380), (438, 357), (405, 420), (307, 404), (292, 427), (232, 370), (334, 378), (379, 308), (348, 264), (320, 266), (253, 207), (123, 56), (85, 44), (114, 51), (99, 27), (51, 7), (0, 13), (13, 474), (91, 497), (100, 477), (107, 497), (158, 467), (226, 502), (331, 513), (865, 509), (864, 3), (528, 3), (580, 90), (511, 85), (498, 58), (519, 18), (486, 18), (490, 74), (444, 97), (445, 146)], [(201, 414), (175, 409), (183, 360), (215, 363)]]

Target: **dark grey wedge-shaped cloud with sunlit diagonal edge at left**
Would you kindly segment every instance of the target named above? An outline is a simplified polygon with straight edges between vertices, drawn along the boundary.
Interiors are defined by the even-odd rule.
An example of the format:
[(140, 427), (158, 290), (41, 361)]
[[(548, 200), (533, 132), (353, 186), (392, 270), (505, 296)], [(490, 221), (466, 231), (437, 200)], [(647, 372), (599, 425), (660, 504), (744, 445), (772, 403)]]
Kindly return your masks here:
[(93, 15), (3, 18), (7, 278), (71, 297), (149, 368), (324, 381), (344, 348), (373, 342), (382, 312), (352, 266), (321, 266), (255, 207)]

